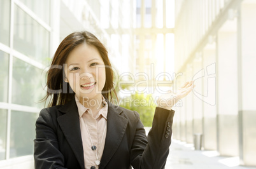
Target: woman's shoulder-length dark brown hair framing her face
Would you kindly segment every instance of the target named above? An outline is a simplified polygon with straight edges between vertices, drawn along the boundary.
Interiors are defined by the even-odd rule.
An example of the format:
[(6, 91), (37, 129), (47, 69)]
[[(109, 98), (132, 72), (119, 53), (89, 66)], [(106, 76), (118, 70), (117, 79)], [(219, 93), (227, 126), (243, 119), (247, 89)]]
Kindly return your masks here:
[(73, 32), (60, 43), (52, 59), (51, 67), (47, 72), (47, 93), (45, 98), (43, 98), (43, 101), (47, 101), (50, 97), (50, 100), (48, 100), (48, 107), (66, 104), (69, 100), (75, 97), (75, 93), (70, 88), (69, 83), (66, 83), (63, 79), (65, 76), (64, 64), (69, 53), (83, 43), (95, 46), (106, 66), (106, 82), (102, 91), (103, 96), (112, 100), (111, 91), (113, 91), (115, 97), (117, 97), (113, 85), (113, 70), (111, 69), (110, 60), (108, 59), (108, 51), (104, 45), (90, 32)]

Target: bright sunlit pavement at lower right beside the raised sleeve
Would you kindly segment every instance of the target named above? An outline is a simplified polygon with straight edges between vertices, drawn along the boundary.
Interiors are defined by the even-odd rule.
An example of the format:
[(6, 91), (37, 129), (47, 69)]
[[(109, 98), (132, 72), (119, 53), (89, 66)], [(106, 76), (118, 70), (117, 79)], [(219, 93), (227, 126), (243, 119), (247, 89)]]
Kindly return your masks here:
[[(145, 128), (146, 134), (150, 128)], [(239, 157), (220, 156), (217, 151), (199, 151), (194, 144), (172, 139), (166, 169), (256, 169), (239, 165)]]

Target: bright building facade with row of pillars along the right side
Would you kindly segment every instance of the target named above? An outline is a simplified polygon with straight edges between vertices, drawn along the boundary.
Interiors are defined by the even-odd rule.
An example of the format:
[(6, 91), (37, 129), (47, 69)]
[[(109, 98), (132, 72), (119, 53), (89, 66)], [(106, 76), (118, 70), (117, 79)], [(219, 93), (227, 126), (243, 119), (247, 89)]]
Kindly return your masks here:
[(173, 137), (202, 133), (204, 149), (256, 166), (256, 1), (175, 2), (176, 84), (196, 88), (177, 107)]

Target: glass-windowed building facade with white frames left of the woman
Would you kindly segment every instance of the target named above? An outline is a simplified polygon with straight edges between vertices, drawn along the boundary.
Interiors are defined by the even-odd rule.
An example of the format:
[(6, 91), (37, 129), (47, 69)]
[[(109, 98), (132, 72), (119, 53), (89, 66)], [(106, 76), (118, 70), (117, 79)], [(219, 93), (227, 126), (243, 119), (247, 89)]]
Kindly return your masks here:
[[(50, 1), (0, 1), (0, 168), (32, 167), (42, 71), (55, 43)], [(59, 39), (58, 39), (59, 40)]]

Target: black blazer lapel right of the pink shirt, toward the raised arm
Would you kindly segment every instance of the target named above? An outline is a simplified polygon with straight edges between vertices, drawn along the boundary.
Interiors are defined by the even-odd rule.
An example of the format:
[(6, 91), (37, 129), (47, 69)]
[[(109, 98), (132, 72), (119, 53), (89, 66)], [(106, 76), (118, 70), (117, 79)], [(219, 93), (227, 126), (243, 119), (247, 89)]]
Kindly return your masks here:
[[(107, 99), (106, 99), (107, 100)], [(122, 112), (115, 105), (112, 105), (108, 100), (108, 116), (107, 116), (107, 133), (104, 145), (103, 156), (99, 168), (104, 168), (113, 154), (117, 151), (122, 138), (124, 137), (127, 128), (128, 119), (120, 116)]]

